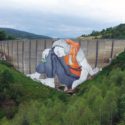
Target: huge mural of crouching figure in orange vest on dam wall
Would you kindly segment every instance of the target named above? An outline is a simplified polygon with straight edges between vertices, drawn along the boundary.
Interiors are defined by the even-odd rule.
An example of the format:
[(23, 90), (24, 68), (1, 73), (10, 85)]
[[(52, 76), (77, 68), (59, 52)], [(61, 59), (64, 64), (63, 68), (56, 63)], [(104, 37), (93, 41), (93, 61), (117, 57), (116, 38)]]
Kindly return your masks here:
[[(72, 91), (87, 80), (88, 75), (93, 76), (98, 72), (98, 68), (92, 69), (88, 64), (79, 43), (70, 39), (61, 39), (55, 41), (51, 48), (43, 51), (36, 72), (27, 76), (53, 88), (57, 87), (56, 77), (59, 86), (64, 85), (65, 91)], [(45, 74), (46, 78), (40, 79), (41, 74)]]

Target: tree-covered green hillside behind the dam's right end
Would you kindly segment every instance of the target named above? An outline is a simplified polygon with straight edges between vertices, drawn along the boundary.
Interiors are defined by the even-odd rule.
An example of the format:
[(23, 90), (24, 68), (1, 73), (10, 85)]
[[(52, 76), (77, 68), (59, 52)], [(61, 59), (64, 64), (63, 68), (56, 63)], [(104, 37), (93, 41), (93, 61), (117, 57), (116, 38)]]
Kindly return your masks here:
[(103, 29), (102, 31), (93, 31), (89, 35), (82, 35), (81, 37), (93, 37), (104, 39), (125, 39), (125, 24), (120, 24), (115, 27)]

